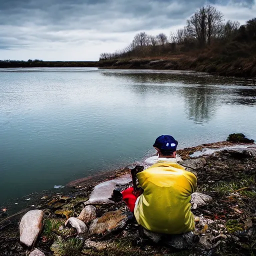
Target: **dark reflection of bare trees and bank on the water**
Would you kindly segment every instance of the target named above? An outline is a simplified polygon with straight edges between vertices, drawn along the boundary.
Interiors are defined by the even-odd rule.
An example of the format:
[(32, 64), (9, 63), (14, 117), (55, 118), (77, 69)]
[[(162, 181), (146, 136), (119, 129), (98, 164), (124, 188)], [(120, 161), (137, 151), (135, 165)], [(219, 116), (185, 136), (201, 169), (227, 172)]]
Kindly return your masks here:
[[(191, 71), (138, 72), (139, 70), (107, 70), (104, 76), (114, 76), (122, 82), (134, 84), (140, 95), (149, 92), (183, 96), (184, 111), (195, 123), (207, 123), (221, 105), (256, 104), (256, 88), (253, 79), (213, 76)], [(185, 85), (185, 86), (184, 86)], [(187, 86), (188, 85), (188, 86)], [(239, 88), (237, 88), (239, 86)], [(248, 88), (244, 88), (249, 86)]]

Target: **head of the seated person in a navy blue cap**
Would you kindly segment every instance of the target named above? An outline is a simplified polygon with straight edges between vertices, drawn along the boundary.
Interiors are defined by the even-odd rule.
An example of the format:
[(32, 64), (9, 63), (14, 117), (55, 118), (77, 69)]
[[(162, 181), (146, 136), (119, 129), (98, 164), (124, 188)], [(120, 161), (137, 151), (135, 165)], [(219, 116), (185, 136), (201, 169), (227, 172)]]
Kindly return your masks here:
[(161, 135), (155, 139), (153, 147), (159, 156), (175, 157), (178, 141), (170, 135)]

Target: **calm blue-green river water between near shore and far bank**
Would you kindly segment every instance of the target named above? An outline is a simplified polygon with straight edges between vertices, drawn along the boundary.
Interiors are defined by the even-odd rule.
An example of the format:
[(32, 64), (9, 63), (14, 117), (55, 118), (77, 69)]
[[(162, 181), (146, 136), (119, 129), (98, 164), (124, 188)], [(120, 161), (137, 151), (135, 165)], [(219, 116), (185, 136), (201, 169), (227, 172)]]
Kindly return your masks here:
[(184, 71), (0, 69), (0, 206), (139, 161), (161, 134), (179, 148), (233, 132), (255, 139), (253, 83)]

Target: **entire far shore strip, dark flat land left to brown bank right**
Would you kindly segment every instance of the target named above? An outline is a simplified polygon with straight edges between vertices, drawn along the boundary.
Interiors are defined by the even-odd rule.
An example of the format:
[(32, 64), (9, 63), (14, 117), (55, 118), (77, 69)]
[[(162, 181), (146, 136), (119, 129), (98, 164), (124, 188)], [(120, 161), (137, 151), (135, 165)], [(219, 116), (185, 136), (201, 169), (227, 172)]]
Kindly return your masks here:
[[(206, 60), (205, 60), (206, 61)], [(256, 69), (248, 67), (241, 61), (239, 66), (230, 63), (216, 63), (211, 60), (200, 62), (184, 54), (160, 58), (125, 58), (100, 61), (42, 61), (42, 60), (0, 60), (0, 68), (34, 68), (34, 67), (98, 67), (104, 69), (152, 69), (152, 70), (186, 70), (205, 72), (213, 75), (233, 76), (254, 79)], [(246, 64), (246, 65), (245, 65)], [(255, 69), (255, 70), (254, 70)]]

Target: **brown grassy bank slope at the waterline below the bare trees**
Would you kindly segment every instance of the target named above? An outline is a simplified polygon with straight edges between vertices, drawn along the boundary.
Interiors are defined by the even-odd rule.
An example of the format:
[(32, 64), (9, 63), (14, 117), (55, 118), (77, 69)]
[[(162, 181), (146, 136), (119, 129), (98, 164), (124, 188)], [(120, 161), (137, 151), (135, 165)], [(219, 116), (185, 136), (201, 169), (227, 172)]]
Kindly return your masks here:
[(221, 76), (244, 78), (256, 77), (254, 58), (237, 58), (235, 61), (223, 61), (219, 56), (178, 54), (159, 58), (125, 58), (98, 62), (100, 68), (112, 69), (162, 69), (193, 70)]

